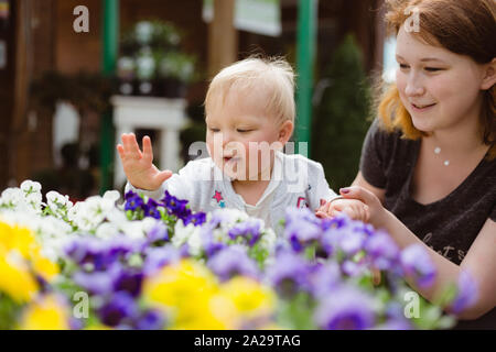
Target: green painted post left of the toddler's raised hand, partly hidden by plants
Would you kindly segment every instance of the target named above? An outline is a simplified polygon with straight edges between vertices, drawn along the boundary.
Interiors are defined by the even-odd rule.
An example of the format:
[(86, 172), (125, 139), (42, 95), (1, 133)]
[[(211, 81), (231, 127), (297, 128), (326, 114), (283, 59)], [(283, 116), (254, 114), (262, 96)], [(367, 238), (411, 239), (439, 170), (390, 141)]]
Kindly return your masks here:
[[(119, 50), (119, 0), (104, 0), (103, 21), (101, 72), (105, 76), (112, 76)], [(112, 167), (114, 123), (111, 111), (107, 111), (103, 114), (100, 123), (100, 194), (111, 188)]]

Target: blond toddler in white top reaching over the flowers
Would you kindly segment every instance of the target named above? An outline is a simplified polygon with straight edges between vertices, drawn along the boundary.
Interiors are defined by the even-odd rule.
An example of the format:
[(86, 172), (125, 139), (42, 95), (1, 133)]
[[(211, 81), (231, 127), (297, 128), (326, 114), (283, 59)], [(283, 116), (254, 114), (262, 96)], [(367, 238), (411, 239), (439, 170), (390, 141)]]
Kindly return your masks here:
[[(209, 156), (188, 162), (179, 174), (153, 164), (150, 138), (143, 150), (134, 134), (117, 145), (128, 178), (126, 190), (161, 199), (164, 191), (187, 199), (194, 211), (236, 208), (265, 220), (277, 233), (288, 207), (317, 216), (337, 211), (367, 221), (359, 200), (341, 199), (320, 163), (282, 153), (294, 127), (294, 74), (279, 58), (247, 58), (218, 73), (205, 99)], [(319, 211), (326, 205), (325, 212)]]

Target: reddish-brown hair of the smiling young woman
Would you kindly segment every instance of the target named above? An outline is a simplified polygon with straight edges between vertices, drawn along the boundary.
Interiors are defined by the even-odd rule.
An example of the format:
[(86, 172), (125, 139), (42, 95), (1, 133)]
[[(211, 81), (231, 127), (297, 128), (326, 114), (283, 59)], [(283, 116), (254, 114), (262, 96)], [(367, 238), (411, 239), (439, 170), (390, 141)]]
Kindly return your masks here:
[[(490, 63), (496, 57), (495, 0), (386, 0), (386, 7), (389, 33), (398, 34), (401, 25), (416, 11), (420, 29), (411, 34), (427, 44), (468, 56), (478, 64)], [(493, 86), (483, 94), (479, 124), (482, 140), (490, 145), (489, 160), (496, 157), (495, 89)], [(395, 84), (380, 96), (378, 112), (387, 130), (398, 128), (407, 139), (424, 135), (413, 127)]]

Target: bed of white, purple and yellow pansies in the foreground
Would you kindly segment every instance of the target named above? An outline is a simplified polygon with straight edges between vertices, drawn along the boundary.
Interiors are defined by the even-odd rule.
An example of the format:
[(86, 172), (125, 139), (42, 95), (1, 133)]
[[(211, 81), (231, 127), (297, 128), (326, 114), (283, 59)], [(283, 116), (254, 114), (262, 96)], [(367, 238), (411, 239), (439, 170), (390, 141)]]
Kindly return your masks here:
[(405, 276), (433, 283), (422, 248), (400, 251), (346, 217), (288, 209), (277, 238), (244, 212), (194, 213), (168, 193), (119, 198), (43, 202), (30, 180), (2, 193), (0, 329), (435, 329), (454, 323), (444, 305), (474, 298), (466, 275), (436, 305), (419, 298)]

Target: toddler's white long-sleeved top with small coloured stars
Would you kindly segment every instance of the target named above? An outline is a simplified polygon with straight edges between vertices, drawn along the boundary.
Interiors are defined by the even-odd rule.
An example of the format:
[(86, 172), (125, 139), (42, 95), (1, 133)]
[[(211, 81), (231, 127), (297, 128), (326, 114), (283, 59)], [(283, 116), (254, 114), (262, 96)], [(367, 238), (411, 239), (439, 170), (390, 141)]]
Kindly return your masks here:
[(128, 190), (140, 191), (160, 200), (165, 190), (179, 199), (187, 199), (193, 211), (209, 212), (219, 208), (235, 208), (265, 220), (276, 233), (288, 207), (309, 207), (315, 211), (324, 201), (337, 195), (328, 187), (324, 169), (317, 162), (299, 154), (276, 153), (269, 185), (255, 206), (247, 205), (233, 188), (231, 179), (214, 164), (211, 157), (188, 162), (153, 191), (126, 185)]

